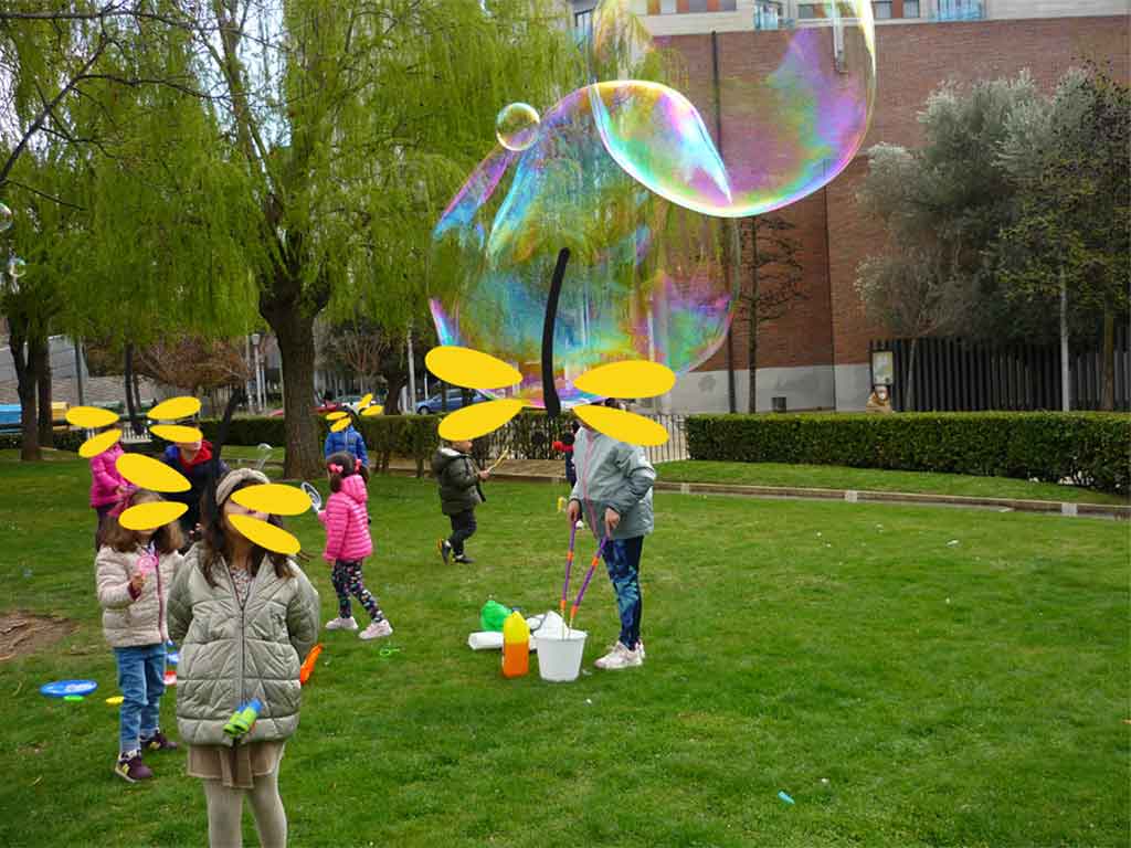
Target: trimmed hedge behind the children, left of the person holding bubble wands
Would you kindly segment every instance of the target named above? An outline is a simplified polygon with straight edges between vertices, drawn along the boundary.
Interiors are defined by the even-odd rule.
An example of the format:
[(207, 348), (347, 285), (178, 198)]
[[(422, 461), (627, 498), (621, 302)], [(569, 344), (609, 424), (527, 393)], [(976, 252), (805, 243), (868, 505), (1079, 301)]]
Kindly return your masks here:
[[(440, 447), (441, 416), (439, 415), (378, 415), (362, 418), (359, 430), (365, 439), (370, 462), (380, 470), (388, 470), (389, 458), (407, 457), (416, 461), (417, 474), (423, 474)], [(325, 440), (329, 423), (317, 419), (319, 439)], [(214, 440), (219, 432), (219, 422), (206, 419), (200, 423), (205, 438)], [(554, 459), (553, 442), (568, 431), (564, 421), (551, 421), (543, 413), (524, 413), (506, 427), (475, 441), (474, 452), (482, 459), (498, 456), (506, 450), (517, 459)], [(228, 427), (227, 444), (286, 444), (286, 422), (275, 418), (233, 418)]]

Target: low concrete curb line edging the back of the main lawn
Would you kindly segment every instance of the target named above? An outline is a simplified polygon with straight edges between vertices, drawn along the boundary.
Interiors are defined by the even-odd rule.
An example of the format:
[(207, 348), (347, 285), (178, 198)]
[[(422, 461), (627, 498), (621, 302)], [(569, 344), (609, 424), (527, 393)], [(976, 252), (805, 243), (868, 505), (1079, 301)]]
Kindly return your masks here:
[[(416, 476), (415, 467), (389, 466), (389, 474)], [(556, 483), (567, 485), (561, 475), (500, 474), (494, 479), (509, 483)], [(871, 492), (855, 488), (797, 488), (792, 486), (743, 486), (731, 483), (673, 483), (656, 481), (661, 492), (681, 494), (727, 494), (745, 497), (767, 497), (801, 501), (844, 501), (846, 503), (896, 503), (918, 507), (959, 507), (966, 509), (996, 509), (1015, 512), (1037, 512), (1043, 514), (1071, 516), (1081, 518), (1107, 518), (1120, 521), (1131, 520), (1131, 507), (1102, 503), (1070, 503), (1060, 501), (1027, 501), (1017, 497), (964, 497), (961, 495), (915, 494), (910, 492)]]

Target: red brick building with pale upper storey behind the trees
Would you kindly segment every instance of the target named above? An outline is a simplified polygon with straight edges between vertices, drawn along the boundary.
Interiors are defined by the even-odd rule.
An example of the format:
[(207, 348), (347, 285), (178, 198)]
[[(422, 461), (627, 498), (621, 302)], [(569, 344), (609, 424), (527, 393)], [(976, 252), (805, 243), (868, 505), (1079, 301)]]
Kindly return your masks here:
[[(594, 2), (575, 2), (575, 24), (584, 27)], [(633, 0), (653, 36), (687, 60), (689, 94), (702, 111), (701, 96), (713, 83), (713, 37), (719, 72), (735, 73), (774, 54), (770, 40), (806, 26), (821, 3), (797, 0)], [(759, 334), (759, 410), (785, 397), (791, 409), (863, 409), (871, 383), (869, 340), (883, 328), (864, 318), (854, 289), (858, 262), (881, 231), (856, 207), (855, 194), (867, 170), (865, 152), (878, 142), (914, 147), (921, 140), (916, 114), (947, 79), (973, 81), (1012, 77), (1028, 69), (1043, 88), (1078, 60), (1111, 60), (1129, 70), (1131, 0), (890, 0), (873, 2), (877, 18), (877, 99), (861, 152), (828, 187), (782, 210), (796, 225), (808, 300), (788, 314), (762, 325)], [(830, 36), (831, 37), (831, 36)], [(759, 45), (762, 50), (759, 51)], [(831, 45), (830, 45), (831, 49)], [(728, 70), (729, 69), (729, 70)], [(727, 105), (722, 106), (727, 138)], [(703, 114), (713, 124), (714, 114)], [(744, 270), (743, 276), (746, 277)], [(735, 408), (748, 398), (746, 327), (732, 330), (731, 369)], [(662, 408), (726, 412), (727, 346), (697, 371), (682, 375), (661, 399)]]

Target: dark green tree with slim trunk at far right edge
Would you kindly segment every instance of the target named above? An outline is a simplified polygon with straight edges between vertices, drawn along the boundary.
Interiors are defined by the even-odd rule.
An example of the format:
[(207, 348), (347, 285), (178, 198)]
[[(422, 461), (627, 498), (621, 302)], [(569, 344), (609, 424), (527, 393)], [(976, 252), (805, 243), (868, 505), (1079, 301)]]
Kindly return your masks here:
[(1063, 286), (1077, 314), (1099, 319), (1102, 408), (1113, 409), (1115, 321), (1129, 309), (1131, 93), (1110, 69), (1087, 63), (1061, 78), (1051, 101), (1015, 113), (1007, 130), (1001, 162), (1018, 194), (1000, 254), (1008, 297), (1048, 304)]

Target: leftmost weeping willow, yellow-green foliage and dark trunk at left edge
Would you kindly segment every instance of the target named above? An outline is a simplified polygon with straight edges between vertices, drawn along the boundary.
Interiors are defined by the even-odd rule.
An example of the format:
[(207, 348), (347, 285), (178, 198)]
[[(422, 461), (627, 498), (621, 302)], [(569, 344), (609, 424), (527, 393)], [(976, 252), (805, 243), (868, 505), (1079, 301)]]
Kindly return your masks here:
[[(11, 327), (24, 459), (38, 458), (36, 435), (50, 435), (50, 332), (145, 338), (163, 312), (189, 325), (207, 315), (183, 305), (201, 288), (201, 257), (214, 271), (213, 257), (224, 254), (223, 237), (176, 226), (200, 209), (154, 180), (161, 172), (191, 182), (201, 171), (191, 159), (213, 149), (182, 132), (207, 128), (208, 95), (190, 85), (187, 31), (171, 25), (166, 7), (71, 0), (0, 10), (0, 76), (10, 80), (0, 94), (0, 194), (16, 213), (14, 248), (28, 260), (0, 309)], [(207, 285), (231, 292), (219, 274)], [(238, 303), (223, 314), (239, 314)]]

